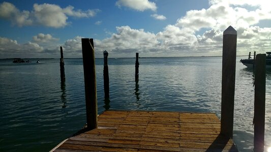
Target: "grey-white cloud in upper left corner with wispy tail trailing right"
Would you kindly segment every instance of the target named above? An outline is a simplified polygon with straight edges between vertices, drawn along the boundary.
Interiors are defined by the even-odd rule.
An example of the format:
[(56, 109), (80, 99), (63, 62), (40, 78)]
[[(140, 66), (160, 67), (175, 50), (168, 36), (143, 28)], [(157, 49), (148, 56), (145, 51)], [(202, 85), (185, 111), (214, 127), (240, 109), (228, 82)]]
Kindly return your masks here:
[(48, 27), (64, 27), (68, 25), (68, 16), (82, 18), (94, 17), (100, 10), (74, 10), (68, 6), (61, 8), (54, 4), (34, 4), (33, 11), (20, 11), (13, 4), (3, 2), (0, 4), (0, 18), (10, 20), (17, 26), (43, 25)]

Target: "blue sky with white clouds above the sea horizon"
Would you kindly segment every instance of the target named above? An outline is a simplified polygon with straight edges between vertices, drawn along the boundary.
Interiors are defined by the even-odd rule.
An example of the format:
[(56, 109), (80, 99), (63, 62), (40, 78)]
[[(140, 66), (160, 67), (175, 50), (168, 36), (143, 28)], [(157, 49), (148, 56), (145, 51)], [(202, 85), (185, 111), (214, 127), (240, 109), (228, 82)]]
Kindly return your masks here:
[[(223, 31), (237, 55), (271, 51), (269, 0), (0, 1), (0, 58), (222, 56)], [(253, 53), (252, 53), (253, 54)]]

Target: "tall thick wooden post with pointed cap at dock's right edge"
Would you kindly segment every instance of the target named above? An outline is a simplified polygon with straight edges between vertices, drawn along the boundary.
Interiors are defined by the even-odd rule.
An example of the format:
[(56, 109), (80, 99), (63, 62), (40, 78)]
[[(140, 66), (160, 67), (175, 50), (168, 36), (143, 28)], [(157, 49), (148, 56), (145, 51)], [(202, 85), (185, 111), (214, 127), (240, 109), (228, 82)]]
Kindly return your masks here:
[(229, 26), (223, 32), (221, 133), (232, 138), (235, 91), (237, 31)]

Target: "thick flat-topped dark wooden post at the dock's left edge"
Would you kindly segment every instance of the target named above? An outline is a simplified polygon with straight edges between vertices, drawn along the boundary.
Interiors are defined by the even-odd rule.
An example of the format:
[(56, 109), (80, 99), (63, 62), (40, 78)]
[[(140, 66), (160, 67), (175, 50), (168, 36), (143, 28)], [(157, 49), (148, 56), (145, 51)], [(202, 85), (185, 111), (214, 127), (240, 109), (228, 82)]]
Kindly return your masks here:
[(97, 90), (93, 39), (82, 39), (87, 130), (98, 126)]

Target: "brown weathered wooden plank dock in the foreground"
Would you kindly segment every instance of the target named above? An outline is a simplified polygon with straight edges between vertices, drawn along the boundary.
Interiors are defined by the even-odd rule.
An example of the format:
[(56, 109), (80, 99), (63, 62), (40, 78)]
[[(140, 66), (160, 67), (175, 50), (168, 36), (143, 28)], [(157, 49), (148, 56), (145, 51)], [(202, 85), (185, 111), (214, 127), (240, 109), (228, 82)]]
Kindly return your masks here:
[(105, 111), (98, 126), (51, 151), (237, 151), (215, 113)]

